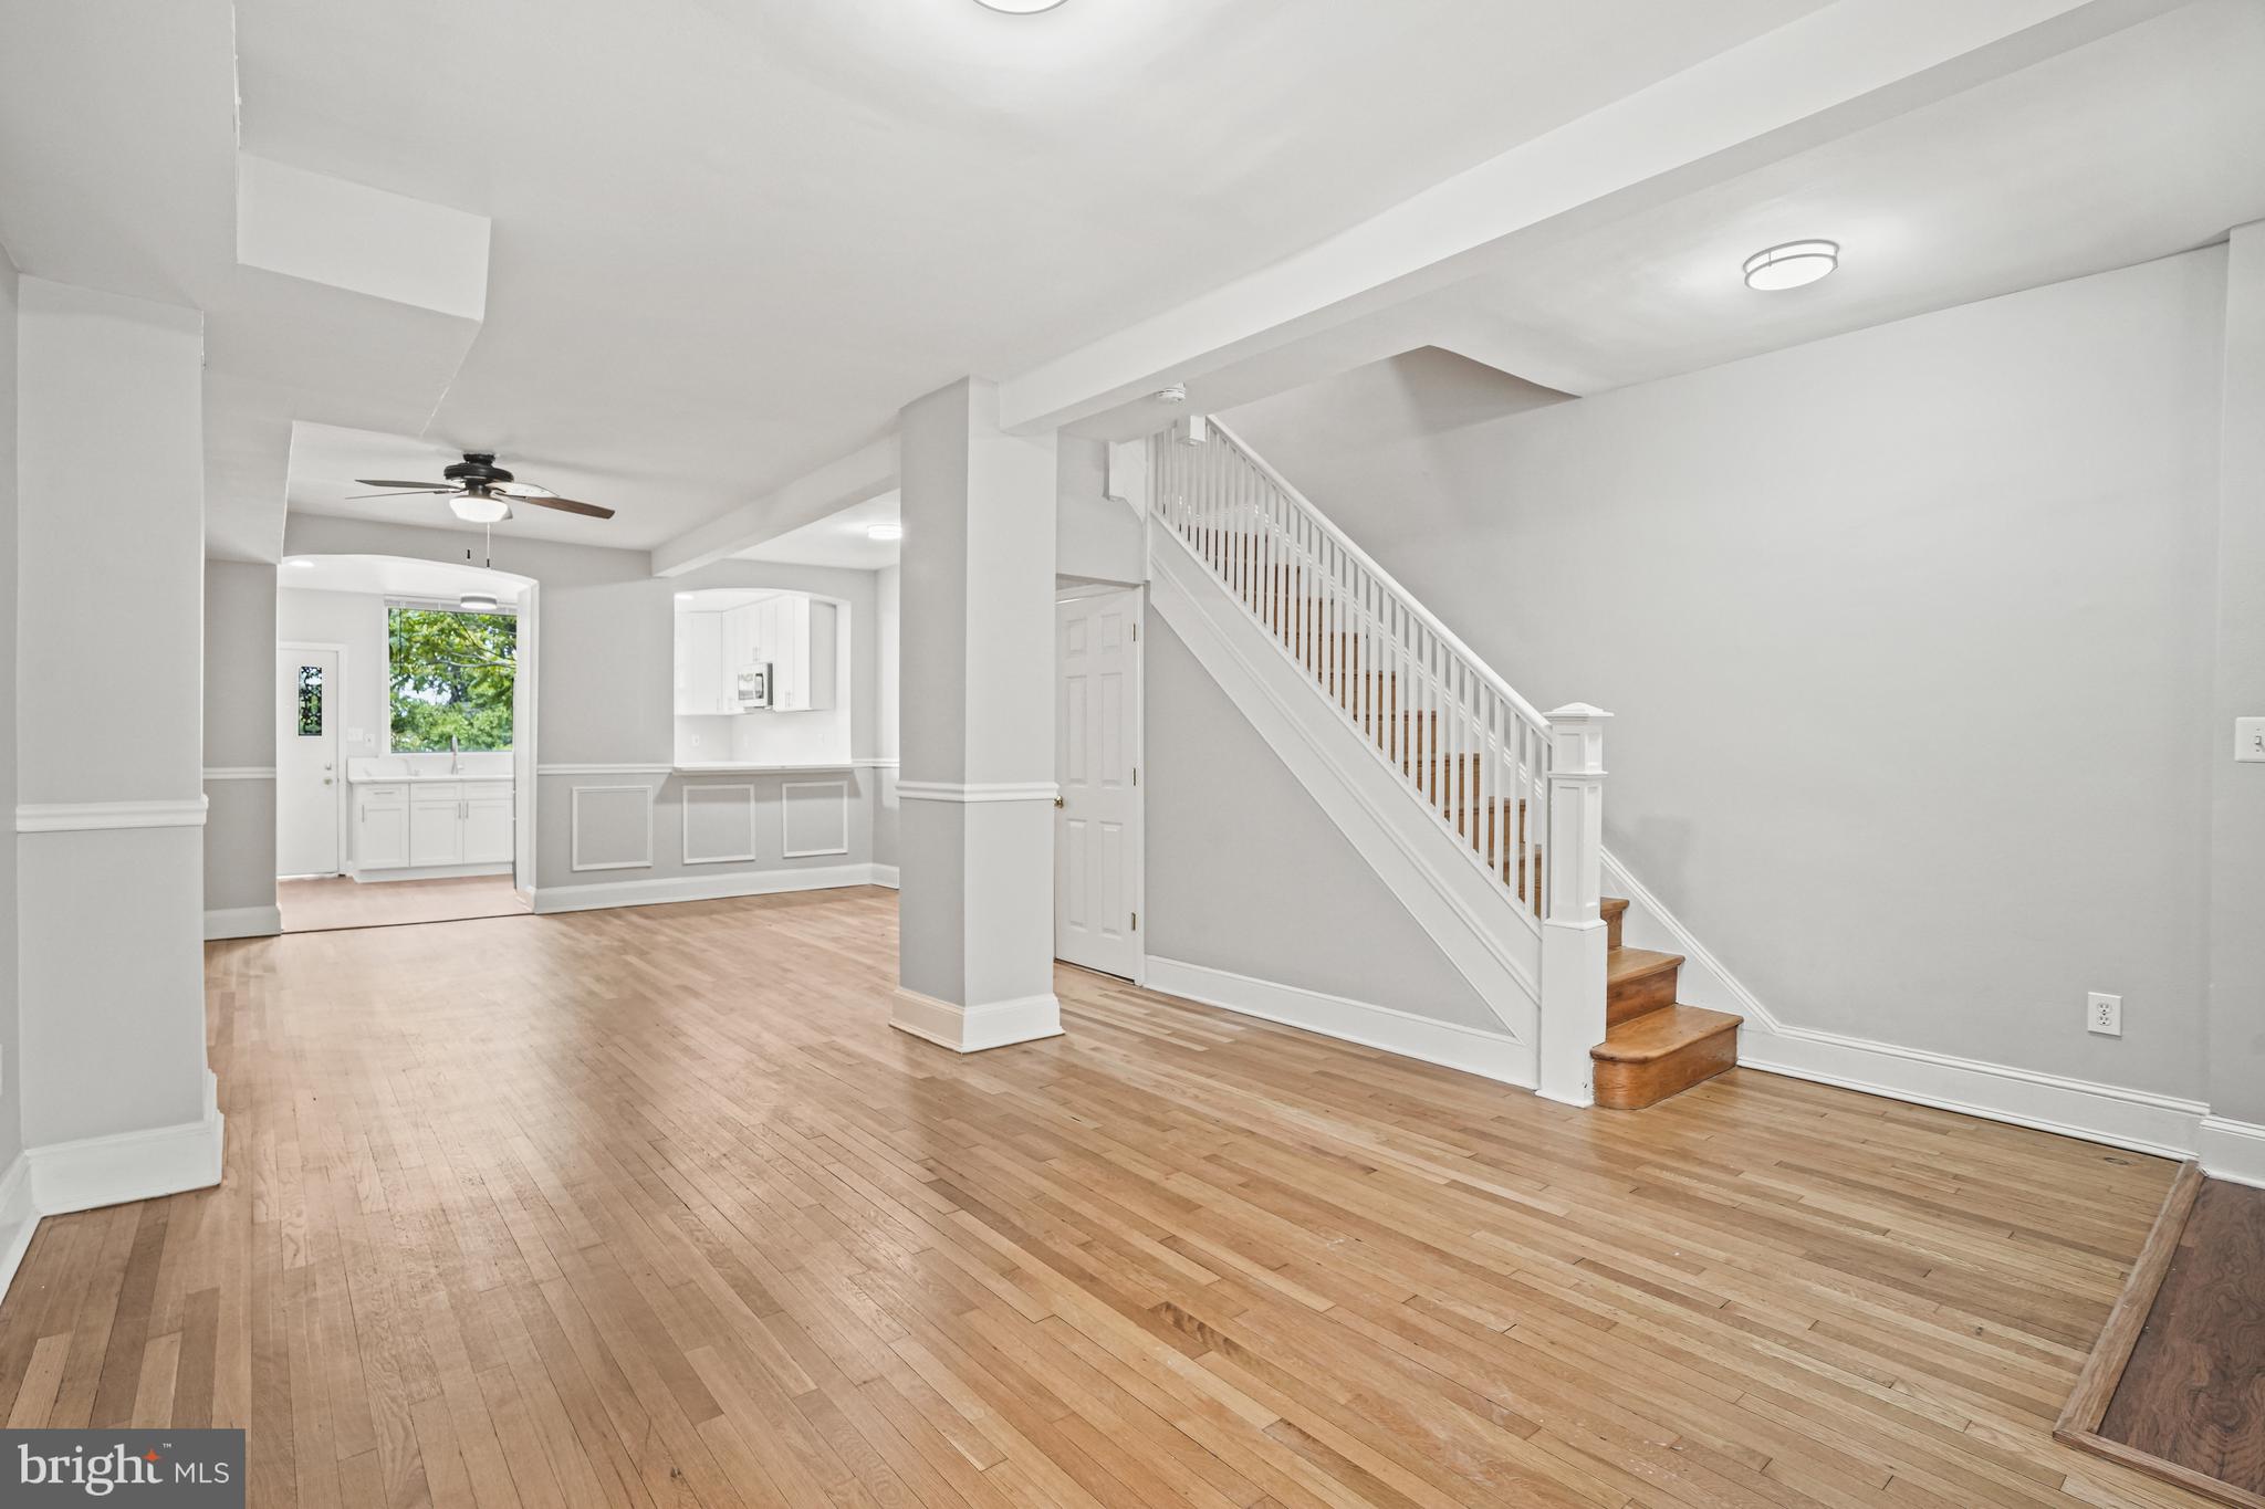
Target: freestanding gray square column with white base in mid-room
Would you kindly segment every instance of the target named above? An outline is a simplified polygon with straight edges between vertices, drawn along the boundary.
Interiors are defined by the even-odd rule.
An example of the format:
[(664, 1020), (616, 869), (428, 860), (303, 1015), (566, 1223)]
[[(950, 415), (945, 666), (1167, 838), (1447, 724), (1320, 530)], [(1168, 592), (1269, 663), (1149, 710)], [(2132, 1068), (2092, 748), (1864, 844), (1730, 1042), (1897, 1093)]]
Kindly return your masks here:
[(1053, 437), (974, 378), (904, 409), (892, 1023), (956, 1052), (1051, 1038)]

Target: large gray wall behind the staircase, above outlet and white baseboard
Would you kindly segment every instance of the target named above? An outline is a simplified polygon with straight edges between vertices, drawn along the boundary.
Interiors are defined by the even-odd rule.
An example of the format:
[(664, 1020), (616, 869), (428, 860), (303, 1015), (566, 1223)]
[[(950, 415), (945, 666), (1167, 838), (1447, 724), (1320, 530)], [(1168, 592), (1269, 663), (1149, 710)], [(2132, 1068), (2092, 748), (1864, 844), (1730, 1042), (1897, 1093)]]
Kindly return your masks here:
[(1778, 1016), (2199, 1100), (2224, 267), (1481, 423), (1228, 421), (1529, 699), (1617, 715), (1606, 842)]

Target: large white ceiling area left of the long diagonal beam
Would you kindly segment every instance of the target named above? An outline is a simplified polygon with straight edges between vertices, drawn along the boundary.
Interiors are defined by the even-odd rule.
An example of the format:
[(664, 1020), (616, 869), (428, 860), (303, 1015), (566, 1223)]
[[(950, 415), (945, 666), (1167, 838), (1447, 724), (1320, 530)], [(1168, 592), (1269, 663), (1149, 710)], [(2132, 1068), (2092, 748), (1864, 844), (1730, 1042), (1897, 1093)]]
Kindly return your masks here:
[[(496, 450), (648, 547), (1819, 2), (0, 0), (0, 242), (211, 312), (215, 547), (285, 486), (394, 516), (285, 482), (292, 421)], [(238, 267), (238, 145), (492, 217), (469, 344)]]

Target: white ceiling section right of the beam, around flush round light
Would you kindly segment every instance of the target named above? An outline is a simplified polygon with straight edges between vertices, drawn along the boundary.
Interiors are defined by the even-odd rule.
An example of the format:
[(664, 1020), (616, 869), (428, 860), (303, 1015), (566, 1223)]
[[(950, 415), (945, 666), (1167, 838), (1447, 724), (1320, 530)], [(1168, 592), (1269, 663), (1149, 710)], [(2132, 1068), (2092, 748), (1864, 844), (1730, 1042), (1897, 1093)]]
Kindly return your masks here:
[[(1644, 382), (2222, 240), (2265, 217), (2265, 5), (2197, 0), (1633, 215), (1468, 290), (1590, 389)], [(1764, 294), (1749, 253), (1841, 242)]]

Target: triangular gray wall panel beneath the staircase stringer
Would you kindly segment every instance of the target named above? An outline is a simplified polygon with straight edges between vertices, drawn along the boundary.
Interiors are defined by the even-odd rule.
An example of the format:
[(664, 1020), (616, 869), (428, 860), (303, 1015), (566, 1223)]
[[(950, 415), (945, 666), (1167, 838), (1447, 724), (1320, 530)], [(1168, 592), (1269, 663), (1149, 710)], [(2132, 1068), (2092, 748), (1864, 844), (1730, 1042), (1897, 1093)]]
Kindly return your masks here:
[(1144, 640), (1148, 952), (1499, 1029), (1155, 613)]

